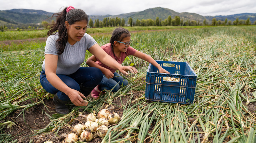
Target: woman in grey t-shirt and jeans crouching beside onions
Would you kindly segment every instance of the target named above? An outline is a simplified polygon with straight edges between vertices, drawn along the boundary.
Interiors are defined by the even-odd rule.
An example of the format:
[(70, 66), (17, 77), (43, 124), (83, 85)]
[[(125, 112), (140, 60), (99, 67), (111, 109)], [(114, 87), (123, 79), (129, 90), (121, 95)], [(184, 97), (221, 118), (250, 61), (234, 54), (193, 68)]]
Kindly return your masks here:
[[(69, 113), (65, 103), (71, 101), (76, 106), (86, 106), (83, 98), (102, 80), (102, 72), (94, 67), (80, 67), (88, 50), (107, 66), (124, 74), (134, 67), (122, 66), (104, 52), (97, 42), (85, 33), (88, 15), (81, 9), (66, 7), (53, 14), (56, 22), (47, 32), (45, 59), (42, 65), (40, 83), (49, 93), (55, 94), (53, 102), (59, 114)], [(56, 32), (58, 31), (58, 32)]]

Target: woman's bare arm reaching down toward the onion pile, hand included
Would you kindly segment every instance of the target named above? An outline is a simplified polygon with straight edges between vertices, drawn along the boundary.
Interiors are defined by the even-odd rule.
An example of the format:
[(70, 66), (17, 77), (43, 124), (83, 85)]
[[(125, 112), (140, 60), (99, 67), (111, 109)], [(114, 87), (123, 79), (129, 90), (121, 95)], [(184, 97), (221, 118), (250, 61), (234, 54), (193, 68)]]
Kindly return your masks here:
[(88, 102), (83, 100), (83, 98), (86, 98), (86, 97), (79, 91), (68, 87), (56, 75), (57, 61), (58, 61), (57, 55), (51, 55), (51, 54), (45, 55), (45, 74), (46, 74), (47, 80), (53, 85), (53, 87), (64, 92), (66, 95), (68, 95), (71, 102), (74, 103), (76, 106), (86, 106)]

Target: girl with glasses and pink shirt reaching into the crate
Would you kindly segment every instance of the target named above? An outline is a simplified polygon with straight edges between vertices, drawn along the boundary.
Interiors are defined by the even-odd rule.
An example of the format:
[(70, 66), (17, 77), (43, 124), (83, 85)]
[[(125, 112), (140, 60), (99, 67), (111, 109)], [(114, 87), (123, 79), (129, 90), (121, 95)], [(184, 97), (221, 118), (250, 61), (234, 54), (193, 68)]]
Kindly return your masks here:
[[(130, 47), (132, 41), (129, 31), (119, 27), (113, 31), (110, 43), (101, 46), (101, 48), (110, 55), (112, 59), (115, 59), (120, 64), (124, 61), (126, 56), (133, 55), (153, 64), (158, 68), (160, 73), (169, 73), (164, 70), (151, 56)], [(120, 87), (128, 85), (128, 81), (115, 72), (115, 69), (108, 67), (101, 61), (102, 60), (92, 55), (86, 62), (88, 66), (96, 67), (104, 74), (100, 84), (91, 92), (91, 96), (94, 98), (97, 98), (102, 90), (113, 89), (112, 91), (116, 92)]]

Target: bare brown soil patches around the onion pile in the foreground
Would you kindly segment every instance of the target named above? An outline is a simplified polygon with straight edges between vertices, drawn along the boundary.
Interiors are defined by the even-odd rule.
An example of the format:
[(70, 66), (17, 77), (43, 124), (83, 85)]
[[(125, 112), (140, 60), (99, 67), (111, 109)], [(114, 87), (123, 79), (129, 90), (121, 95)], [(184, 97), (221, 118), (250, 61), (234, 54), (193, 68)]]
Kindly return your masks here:
[[(139, 98), (141, 95), (141, 91), (134, 92), (134, 97), (133, 100), (136, 98)], [(90, 95), (88, 96), (90, 97)], [(36, 102), (36, 99), (33, 99), (34, 102)], [(128, 96), (123, 96), (121, 97), (122, 103), (125, 104), (129, 100)], [(55, 113), (55, 106), (53, 104), (52, 99), (51, 100), (43, 100), (44, 104), (46, 107), (49, 109), (49, 111), (46, 109), (46, 107), (43, 105), (43, 103), (40, 103), (38, 105), (35, 105), (31, 108), (28, 108), (28, 110), (25, 111), (25, 121), (23, 118), (23, 113), (22, 109), (16, 110), (13, 112), (11, 115), (7, 116), (5, 118), (5, 121), (11, 120), (15, 123), (12, 129), (4, 129), (4, 131), (8, 134), (11, 134), (13, 140), (17, 139), (18, 143), (29, 143), (31, 140), (33, 143), (43, 143), (45, 141), (53, 141), (54, 143), (64, 143), (65, 135), (69, 134), (72, 132), (72, 129), (69, 127), (64, 127), (61, 128), (58, 131), (57, 136), (55, 135), (57, 129), (53, 131), (50, 134), (41, 134), (41, 135), (34, 135), (35, 130), (39, 129), (44, 129), (51, 121), (46, 114), (42, 112), (44, 110), (47, 114), (52, 116)], [(28, 100), (22, 104), (30, 104), (32, 101)], [(122, 106), (122, 103), (120, 100), (114, 100), (113, 103), (117, 104), (118, 106)], [(116, 112), (120, 117), (122, 117), (123, 114), (123, 109), (119, 108), (118, 106), (114, 105), (109, 108), (110, 112)], [(104, 106), (105, 108), (105, 106)], [(83, 109), (81, 108), (81, 111)], [(20, 114), (21, 113), (21, 114)], [(19, 115), (20, 114), (20, 115)], [(89, 113), (84, 113), (89, 114)], [(18, 116), (19, 115), (19, 116)], [(86, 121), (82, 117), (77, 117), (71, 124), (70, 126), (74, 127), (78, 123), (85, 123)], [(94, 138), (91, 142), (89, 143), (100, 143), (102, 141), (101, 137)]]

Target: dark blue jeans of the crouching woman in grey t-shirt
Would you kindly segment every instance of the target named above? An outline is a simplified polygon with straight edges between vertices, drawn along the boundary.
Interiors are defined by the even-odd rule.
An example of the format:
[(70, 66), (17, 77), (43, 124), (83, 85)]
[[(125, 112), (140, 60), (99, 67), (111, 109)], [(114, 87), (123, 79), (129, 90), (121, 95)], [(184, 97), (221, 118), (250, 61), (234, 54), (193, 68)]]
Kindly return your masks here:
[[(70, 88), (77, 91), (80, 90), (80, 84), (84, 87), (92, 88), (96, 87), (102, 80), (102, 72), (95, 67), (80, 67), (75, 73), (70, 75), (57, 74), (57, 76)], [(47, 80), (45, 71), (41, 71), (40, 83), (42, 87), (51, 94), (56, 94), (62, 101), (69, 101), (69, 97), (52, 86), (52, 84)]]

